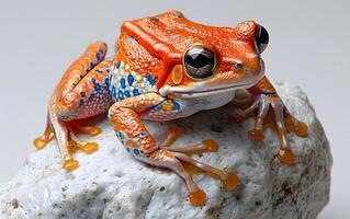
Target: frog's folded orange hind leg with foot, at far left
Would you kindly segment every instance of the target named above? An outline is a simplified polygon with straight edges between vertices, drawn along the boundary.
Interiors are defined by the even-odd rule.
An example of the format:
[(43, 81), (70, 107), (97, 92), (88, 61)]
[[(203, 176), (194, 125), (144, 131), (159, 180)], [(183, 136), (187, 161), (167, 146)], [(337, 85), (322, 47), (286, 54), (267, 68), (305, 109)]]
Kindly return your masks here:
[[(108, 78), (113, 59), (104, 59), (105, 53), (104, 43), (91, 44), (87, 51), (65, 72), (49, 102), (48, 127), (50, 128), (47, 128), (46, 135), (44, 134), (41, 139), (46, 142), (47, 132), (50, 129), (54, 131), (60, 150), (63, 168), (68, 171), (79, 166), (78, 161), (72, 158), (77, 149), (87, 153), (97, 150), (97, 143), (81, 142), (75, 131), (90, 136), (101, 132), (101, 129), (95, 127), (79, 127), (75, 120), (104, 113), (112, 105)], [(42, 141), (36, 140), (34, 143), (39, 146)]]

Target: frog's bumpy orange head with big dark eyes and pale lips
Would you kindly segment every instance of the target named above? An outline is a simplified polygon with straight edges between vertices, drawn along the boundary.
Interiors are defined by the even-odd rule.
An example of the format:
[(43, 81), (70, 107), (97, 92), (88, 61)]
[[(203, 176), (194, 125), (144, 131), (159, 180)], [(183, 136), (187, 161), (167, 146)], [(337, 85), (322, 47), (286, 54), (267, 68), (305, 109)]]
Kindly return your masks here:
[(195, 97), (250, 88), (264, 73), (261, 53), (269, 43), (267, 30), (253, 21), (235, 27), (205, 27), (207, 36), (189, 44), (182, 64), (174, 65), (162, 95)]

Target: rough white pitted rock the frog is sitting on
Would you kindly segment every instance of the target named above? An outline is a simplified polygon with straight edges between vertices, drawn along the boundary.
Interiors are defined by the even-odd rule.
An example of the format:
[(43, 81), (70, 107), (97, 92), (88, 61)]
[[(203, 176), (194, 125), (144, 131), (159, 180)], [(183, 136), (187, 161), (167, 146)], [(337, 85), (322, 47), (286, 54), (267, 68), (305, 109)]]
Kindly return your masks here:
[[(30, 154), (16, 176), (0, 188), (0, 218), (316, 218), (329, 199), (329, 145), (302, 90), (276, 88), (289, 110), (309, 128), (307, 138), (289, 134), (295, 166), (274, 159), (279, 142), (272, 131), (266, 131), (263, 143), (248, 138), (253, 119), (228, 124), (224, 111), (216, 110), (178, 120), (199, 131), (188, 131), (176, 146), (216, 139), (218, 152), (194, 158), (229, 169), (242, 182), (235, 192), (226, 192), (221, 182), (196, 175), (208, 199), (203, 207), (192, 207), (179, 176), (134, 160), (104, 120), (103, 134), (92, 139), (100, 143), (99, 151), (76, 153), (81, 165), (74, 172), (60, 169), (56, 142)], [(169, 123), (147, 125), (161, 136)], [(213, 131), (213, 126), (222, 127), (222, 132)]]

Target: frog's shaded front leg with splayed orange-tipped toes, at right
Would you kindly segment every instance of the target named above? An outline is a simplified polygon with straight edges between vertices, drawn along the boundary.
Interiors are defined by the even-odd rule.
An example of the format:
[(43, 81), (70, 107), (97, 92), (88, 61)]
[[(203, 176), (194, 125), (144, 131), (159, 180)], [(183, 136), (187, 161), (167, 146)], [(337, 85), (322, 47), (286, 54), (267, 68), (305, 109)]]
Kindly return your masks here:
[(307, 125), (296, 119), (284, 106), (271, 82), (263, 77), (255, 87), (250, 88), (251, 104), (235, 116), (232, 122), (241, 122), (248, 116), (256, 116), (256, 125), (248, 134), (253, 140), (263, 140), (263, 125), (269, 126), (279, 136), (281, 149), (276, 157), (282, 163), (294, 164), (295, 157), (287, 141), (286, 131), (294, 131), (297, 136), (307, 136)]

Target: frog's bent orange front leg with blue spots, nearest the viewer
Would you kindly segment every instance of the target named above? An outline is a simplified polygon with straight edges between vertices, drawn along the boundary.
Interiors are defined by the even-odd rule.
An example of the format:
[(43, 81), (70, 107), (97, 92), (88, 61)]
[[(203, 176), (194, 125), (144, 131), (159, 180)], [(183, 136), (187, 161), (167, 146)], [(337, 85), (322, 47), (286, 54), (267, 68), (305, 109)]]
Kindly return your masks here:
[[(174, 110), (171, 107), (171, 103), (172, 100), (165, 99), (159, 94), (146, 93), (116, 102), (111, 106), (109, 117), (114, 124), (116, 136), (133, 157), (150, 165), (174, 171), (185, 181), (190, 192), (190, 203), (194, 206), (200, 206), (205, 203), (206, 195), (187, 172), (184, 163), (193, 165), (204, 173), (215, 175), (223, 181), (224, 187), (228, 191), (237, 186), (238, 177), (234, 173), (199, 162), (185, 153), (158, 146), (155, 138), (142, 123), (140, 117), (143, 114), (147, 114), (147, 116), (154, 118), (157, 116), (159, 116), (159, 119), (161, 117), (165, 118), (167, 113), (171, 113)], [(180, 111), (180, 108), (176, 107), (174, 111)]]

